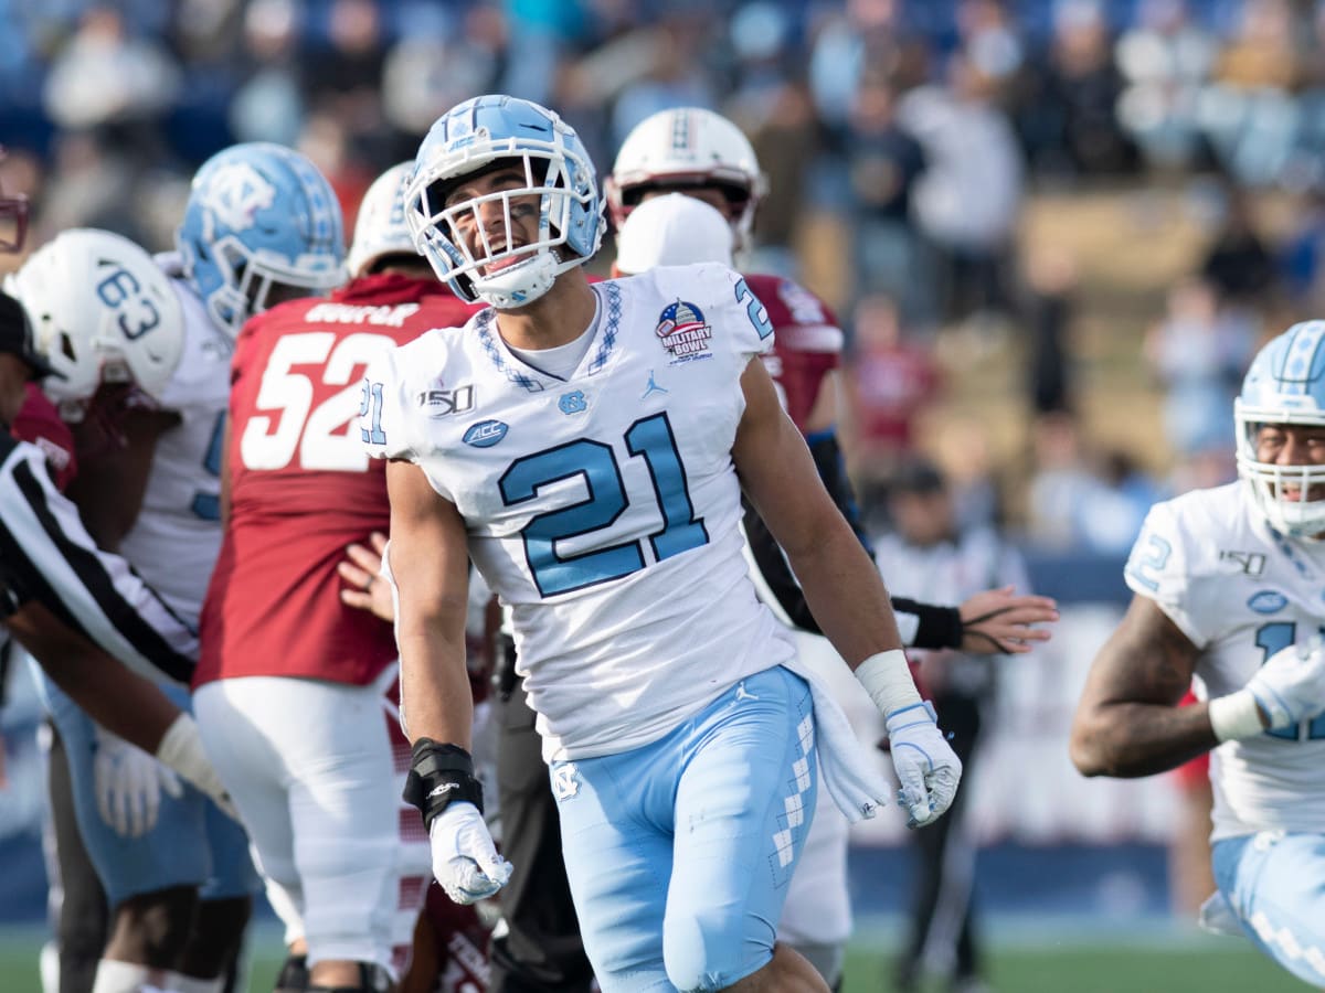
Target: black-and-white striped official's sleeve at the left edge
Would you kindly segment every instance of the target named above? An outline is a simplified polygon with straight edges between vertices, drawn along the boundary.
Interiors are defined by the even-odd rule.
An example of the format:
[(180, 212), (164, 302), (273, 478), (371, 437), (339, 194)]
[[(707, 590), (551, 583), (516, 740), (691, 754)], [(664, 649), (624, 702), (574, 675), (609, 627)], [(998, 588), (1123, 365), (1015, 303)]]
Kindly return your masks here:
[(0, 580), (8, 608), (38, 600), (147, 677), (188, 685), (197, 633), (118, 555), (101, 551), (50, 483), (41, 449), (0, 441)]

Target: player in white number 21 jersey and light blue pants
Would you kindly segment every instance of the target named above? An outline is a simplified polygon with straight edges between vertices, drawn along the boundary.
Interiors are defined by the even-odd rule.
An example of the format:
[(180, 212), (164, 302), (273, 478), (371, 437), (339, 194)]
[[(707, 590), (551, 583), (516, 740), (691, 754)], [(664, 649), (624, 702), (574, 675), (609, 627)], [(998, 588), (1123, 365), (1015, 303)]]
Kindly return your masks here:
[(392, 459), (408, 792), (435, 874), (469, 902), (511, 873), (468, 753), (472, 555), (513, 613), (603, 989), (827, 990), (774, 935), (820, 773), (856, 818), (889, 788), (755, 596), (742, 489), (884, 712), (913, 825), (946, 810), (961, 764), (878, 572), (750, 361), (771, 346), (762, 305), (712, 265), (591, 286), (594, 167), (526, 101), (439, 119), (405, 199), (439, 277), (492, 305), (375, 361), (360, 405), (368, 450)]

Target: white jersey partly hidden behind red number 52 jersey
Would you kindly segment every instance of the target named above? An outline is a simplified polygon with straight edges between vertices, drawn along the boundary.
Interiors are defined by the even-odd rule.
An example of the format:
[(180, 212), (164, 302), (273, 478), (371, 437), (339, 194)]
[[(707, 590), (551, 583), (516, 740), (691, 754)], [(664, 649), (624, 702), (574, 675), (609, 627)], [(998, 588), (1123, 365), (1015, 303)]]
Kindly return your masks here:
[[(167, 258), (162, 267), (170, 269)], [(231, 392), (232, 344), (182, 279), (184, 350), (162, 393), (180, 422), (156, 440), (143, 506), (119, 545), (166, 601), (195, 624), (221, 547), (221, 445)]]

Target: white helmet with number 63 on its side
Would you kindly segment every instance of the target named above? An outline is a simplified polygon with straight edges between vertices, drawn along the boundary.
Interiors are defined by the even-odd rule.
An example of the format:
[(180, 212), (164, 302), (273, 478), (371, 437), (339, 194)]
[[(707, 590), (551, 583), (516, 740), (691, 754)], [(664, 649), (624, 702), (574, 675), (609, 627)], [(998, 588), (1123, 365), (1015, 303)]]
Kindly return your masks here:
[(152, 257), (107, 230), (73, 228), (32, 253), (5, 289), (32, 320), (37, 352), (64, 379), (42, 389), (80, 421), (102, 383), (160, 402), (184, 350), (184, 312)]

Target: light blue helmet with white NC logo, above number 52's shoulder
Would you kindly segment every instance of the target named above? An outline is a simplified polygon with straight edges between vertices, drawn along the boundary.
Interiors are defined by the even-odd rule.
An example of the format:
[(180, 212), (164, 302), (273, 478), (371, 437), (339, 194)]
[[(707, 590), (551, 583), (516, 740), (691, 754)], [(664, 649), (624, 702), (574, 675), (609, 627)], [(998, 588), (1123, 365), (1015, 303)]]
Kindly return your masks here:
[(273, 286), (319, 295), (344, 282), (331, 184), (303, 155), (269, 142), (231, 146), (203, 163), (175, 244), (208, 314), (232, 335), (266, 308)]

